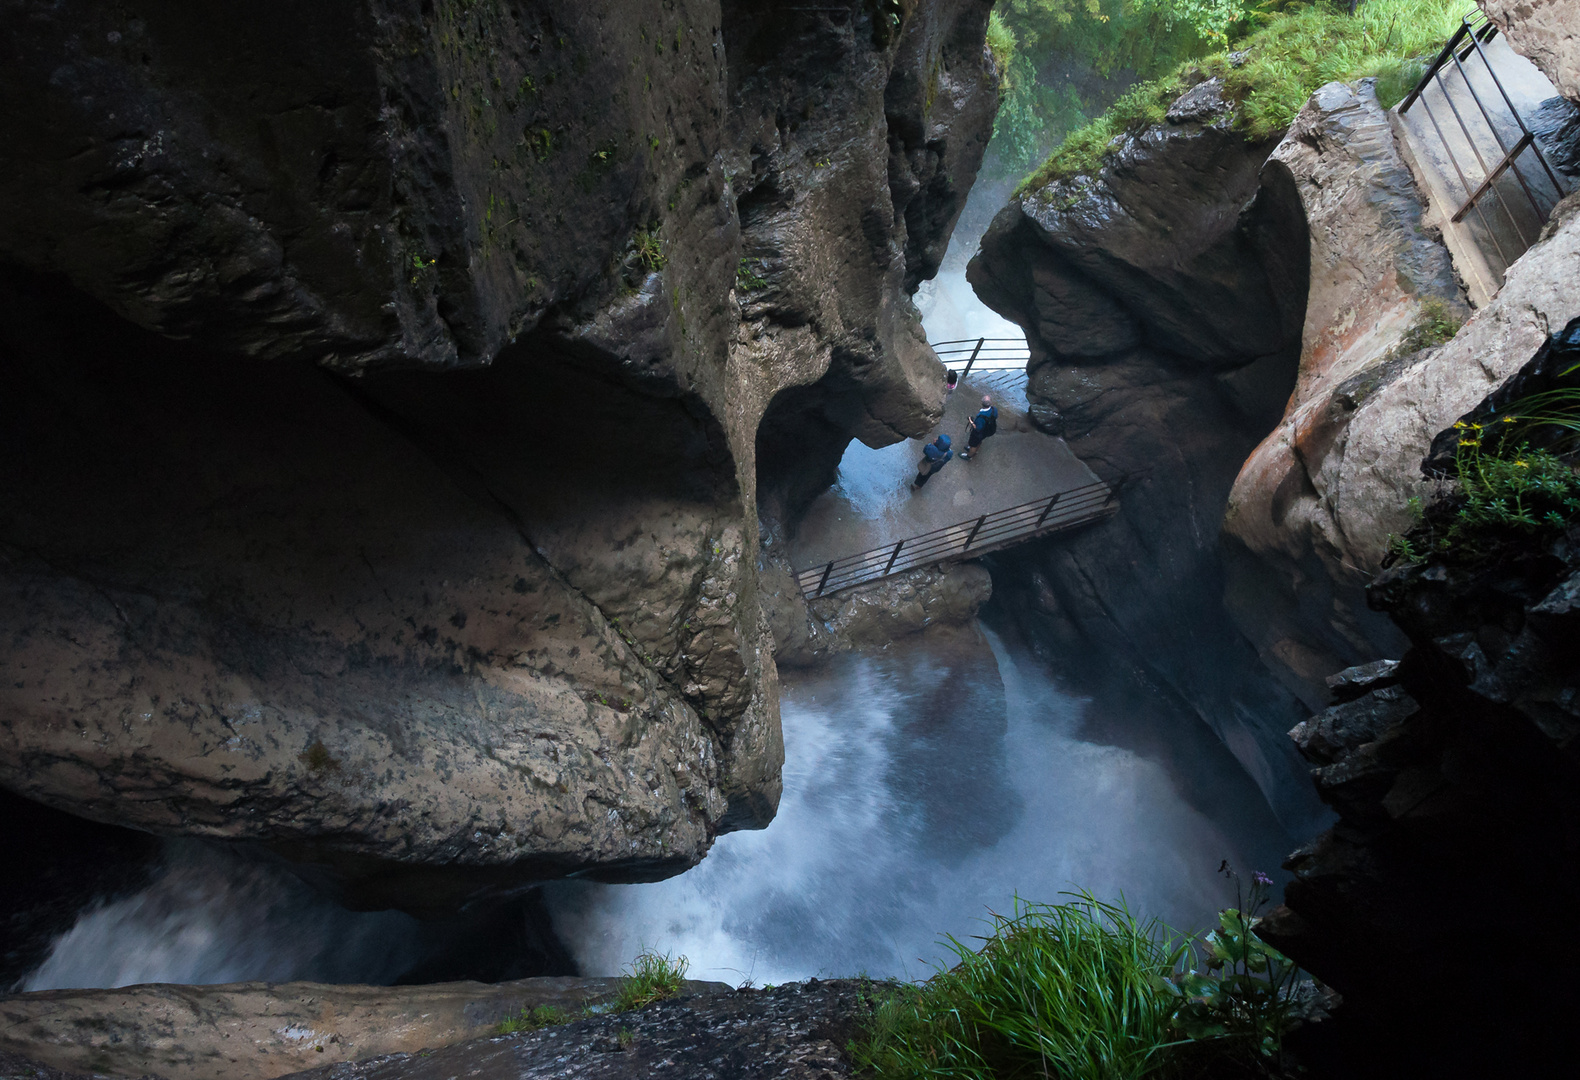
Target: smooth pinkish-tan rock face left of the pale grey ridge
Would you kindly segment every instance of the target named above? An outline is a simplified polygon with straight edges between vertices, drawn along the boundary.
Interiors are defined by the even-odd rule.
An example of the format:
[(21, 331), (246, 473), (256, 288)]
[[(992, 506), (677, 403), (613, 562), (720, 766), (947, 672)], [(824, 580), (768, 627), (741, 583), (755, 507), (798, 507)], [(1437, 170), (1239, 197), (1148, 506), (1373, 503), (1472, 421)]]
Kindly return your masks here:
[(1352, 524), (1392, 508), (1397, 493), (1346, 471), (1349, 425), (1420, 360), (1400, 341), (1425, 302), (1458, 317), (1469, 308), (1441, 238), (1422, 226), (1424, 201), (1371, 81), (1313, 93), (1262, 172), (1299, 197), (1311, 278), (1294, 393), (1224, 513), (1226, 595), (1269, 668), (1321, 707), (1329, 671), (1403, 651), (1365, 605), (1381, 553), (1357, 549)]

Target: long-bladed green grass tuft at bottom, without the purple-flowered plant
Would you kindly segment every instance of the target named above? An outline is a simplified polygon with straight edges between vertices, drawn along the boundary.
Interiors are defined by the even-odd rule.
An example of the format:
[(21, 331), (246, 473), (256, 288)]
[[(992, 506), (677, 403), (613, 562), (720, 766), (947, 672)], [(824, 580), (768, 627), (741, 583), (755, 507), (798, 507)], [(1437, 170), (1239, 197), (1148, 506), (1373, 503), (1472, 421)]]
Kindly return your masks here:
[(1160, 988), (1185, 944), (1122, 905), (1082, 894), (992, 916), (981, 951), (899, 985), (850, 1045), (878, 1077), (1146, 1077), (1164, 1066), (1174, 1001)]

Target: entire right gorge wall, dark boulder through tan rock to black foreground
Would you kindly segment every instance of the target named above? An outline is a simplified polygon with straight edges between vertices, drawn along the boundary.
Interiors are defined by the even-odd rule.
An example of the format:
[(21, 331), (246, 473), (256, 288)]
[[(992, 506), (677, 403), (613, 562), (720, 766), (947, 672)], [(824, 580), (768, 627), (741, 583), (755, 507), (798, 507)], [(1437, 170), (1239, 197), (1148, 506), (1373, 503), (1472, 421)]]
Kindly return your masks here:
[[(1531, 5), (1488, 6), (1564, 85), (1563, 5), (1534, 5), (1528, 25)], [(1229, 126), (1202, 114), (1213, 96), (1196, 87), (1100, 171), (1022, 193), (973, 262), (984, 302), (1027, 328), (1033, 415), (1106, 475), (1130, 474), (1108, 526), (999, 556), (995, 603), (1071, 649), (1106, 635), (1247, 767), (1280, 759), (1275, 785), (1315, 782), (1337, 812), (1286, 862), (1288, 906), (1266, 924), (1348, 1001), (1302, 1050), (1311, 1064), (1558, 1075), (1572, 949), (1545, 933), (1473, 960), (1466, 947), (1496, 935), (1510, 902), (1526, 925), (1563, 924), (1575, 902), (1559, 854), (1574, 848), (1574, 537), (1490, 565), (1387, 568), (1386, 556), (1414, 507), (1446, 491), (1452, 425), (1552, 385), (1572, 355), (1580, 196), (1473, 311), (1368, 81), (1321, 87), (1277, 145), (1207, 134)], [(1207, 155), (1210, 139), (1221, 150)], [(1158, 213), (1157, 191), (1188, 194), (1190, 218)], [(1243, 349), (1207, 366), (1171, 322), (1180, 272), (1196, 275), (1213, 343), (1255, 339), (1247, 330), (1292, 309), (1272, 358)], [(1226, 281), (1243, 325), (1215, 303)], [(1449, 317), (1465, 319), (1449, 339), (1422, 333)], [(1236, 392), (1259, 363), (1277, 377), (1253, 412)], [(1335, 674), (1348, 665), (1360, 666)], [(1245, 753), (1224, 688), (1258, 682), (1277, 692), (1245, 725), (1258, 739)], [(1275, 745), (1277, 717), (1307, 709), (1289, 736), (1310, 780)], [(1480, 988), (1466, 993), (1466, 977)]]

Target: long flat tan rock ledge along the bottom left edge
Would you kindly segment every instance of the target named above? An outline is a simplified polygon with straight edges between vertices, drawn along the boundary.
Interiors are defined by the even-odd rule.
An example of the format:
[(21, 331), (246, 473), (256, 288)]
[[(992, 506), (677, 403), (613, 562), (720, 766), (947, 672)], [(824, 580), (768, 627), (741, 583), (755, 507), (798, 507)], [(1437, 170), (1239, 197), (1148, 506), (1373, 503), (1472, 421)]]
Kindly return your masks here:
[[(0, 1050), (117, 1077), (272, 1080), (302, 1069), (431, 1052), (491, 1036), (534, 1009), (575, 1017), (607, 1006), (621, 979), (357, 987), (245, 982), (44, 990), (0, 998)], [(689, 982), (686, 993), (720, 993)]]

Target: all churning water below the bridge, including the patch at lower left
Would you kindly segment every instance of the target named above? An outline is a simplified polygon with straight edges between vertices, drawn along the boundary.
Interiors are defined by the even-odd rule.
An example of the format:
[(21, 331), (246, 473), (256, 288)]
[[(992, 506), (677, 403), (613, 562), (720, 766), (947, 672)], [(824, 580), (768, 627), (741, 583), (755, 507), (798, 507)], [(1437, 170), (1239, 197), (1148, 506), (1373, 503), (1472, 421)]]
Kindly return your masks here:
[[(916, 977), (943, 935), (969, 939), (1016, 895), (1071, 889), (1201, 925), (1231, 898), (1221, 861), (1272, 868), (1289, 843), (1206, 725), (1115, 717), (991, 630), (787, 679), (784, 726), (785, 794), (768, 829), (722, 837), (659, 884), (550, 889), (583, 974), (656, 949), (724, 982)], [(182, 843), (150, 886), (81, 916), (24, 988), (389, 982), (457, 941)]]

